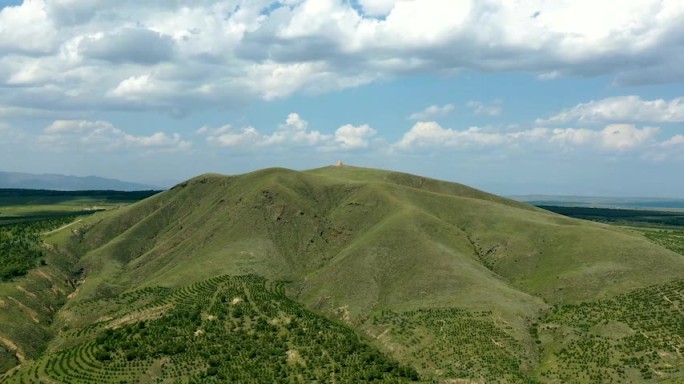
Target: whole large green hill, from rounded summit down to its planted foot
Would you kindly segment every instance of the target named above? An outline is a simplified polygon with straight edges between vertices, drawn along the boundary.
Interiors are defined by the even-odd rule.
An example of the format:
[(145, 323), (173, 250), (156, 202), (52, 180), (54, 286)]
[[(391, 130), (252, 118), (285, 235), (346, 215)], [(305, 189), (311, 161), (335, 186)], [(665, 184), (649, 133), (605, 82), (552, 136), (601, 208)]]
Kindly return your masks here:
[[(296, 302), (302, 306), (293, 318), (319, 316), (321, 324), (330, 321), (321, 316), (334, 320), (331, 324), (339, 330), (325, 340), (358, 338), (354, 350), (359, 357), (330, 357), (329, 363), (321, 363), (312, 356), (323, 353), (321, 348), (330, 354), (334, 344), (320, 347), (328, 344), (310, 338), (308, 344), (296, 344), (296, 329), (271, 329), (281, 335), (273, 352), (280, 360), (264, 367), (266, 376), (259, 377), (275, 381), (327, 382), (335, 367), (339, 372), (376, 372), (373, 378), (390, 381), (412, 379), (408, 367), (423, 380), (445, 382), (563, 381), (575, 376), (591, 382), (594, 371), (604, 375), (602, 381), (616, 382), (684, 374), (675, 342), (684, 334), (671, 326), (673, 318), (675, 324), (684, 323), (677, 310), (684, 307), (684, 298), (676, 285), (684, 279), (684, 256), (639, 233), (565, 218), (456, 183), (356, 167), (202, 175), (142, 202), (88, 217), (71, 235), (56, 234), (53, 243), (48, 266), (50, 260), (69, 260), (61, 262), (59, 273), (70, 274), (78, 284), (63, 306), (53, 306), (49, 326), (41, 323), (47, 335), (42, 339), (22, 336), (35, 327), (30, 322), (12, 332), (0, 327), (0, 336), (34, 360), (6, 376), (16, 382), (31, 377), (45, 382), (66, 377), (73, 382), (135, 382), (141, 377), (192, 382), (206, 379), (210, 368), (222, 375), (242, 372), (235, 363), (212, 365), (202, 357), (206, 346), (151, 351), (128, 360), (131, 343), (117, 341), (104, 352), (99, 345), (111, 336), (110, 330), (121, 333), (117, 340), (144, 340), (137, 324), (169, 321), (181, 316), (174, 311), (189, 311), (190, 305), (196, 315), (188, 315), (191, 320), (178, 329), (205, 327), (220, 289), (190, 299), (169, 292), (192, 291), (187, 287), (204, 286), (219, 276), (245, 275), (282, 287), (281, 295), (269, 294), (255, 304), (281, 309), (257, 309), (258, 315), (242, 321), (250, 324), (246, 328), (225, 320), (223, 330), (212, 337), (228, 337), (221, 332), (235, 336), (231, 332), (237, 329), (265, 337), (256, 324), (275, 326), (285, 316), (281, 312), (290, 313), (283, 308)], [(30, 290), (31, 284), (26, 287)], [(2, 289), (10, 288), (0, 286), (0, 293)], [(252, 289), (257, 288), (245, 292)], [(662, 319), (644, 325), (615, 315), (614, 323), (597, 320), (588, 328), (573, 328), (577, 324), (568, 316), (573, 308), (585, 306), (596, 308), (595, 313), (622, 313), (618, 304), (606, 303), (628, 303), (649, 316), (647, 302), (639, 300), (652, 298), (633, 293), (639, 290), (669, 292), (669, 301), (659, 304)], [(127, 297), (140, 297), (141, 292), (148, 301), (122, 309)], [(283, 300), (294, 301), (279, 304)], [(582, 344), (571, 344), (577, 338), (628, 343), (621, 338), (640, 327), (646, 333), (660, 325), (662, 332), (643, 342), (642, 349), (617, 349), (610, 363), (563, 360), (569, 348), (581, 349)], [(616, 331), (618, 336), (594, 332), (592, 327), (599, 326), (629, 331)], [(174, 340), (173, 345), (188, 342), (187, 337)], [(220, 348), (220, 343), (210, 345)], [(281, 353), (293, 348), (307, 362), (295, 364), (297, 369)], [(304, 354), (312, 348), (314, 355)], [(97, 359), (105, 352), (111, 362)], [(379, 355), (372, 360), (361, 357), (375, 353)], [(648, 353), (652, 360), (643, 360)], [(653, 357), (663, 353), (669, 357)], [(615, 368), (620, 359), (629, 358), (643, 361), (626, 365), (622, 372)], [(382, 369), (376, 369), (376, 361), (383, 361)], [(183, 364), (199, 368), (193, 371)], [(164, 367), (185, 374), (165, 374)], [(583, 370), (591, 372), (575, 375)], [(239, 377), (258, 380), (249, 372)], [(362, 380), (336, 377), (340, 382)]]

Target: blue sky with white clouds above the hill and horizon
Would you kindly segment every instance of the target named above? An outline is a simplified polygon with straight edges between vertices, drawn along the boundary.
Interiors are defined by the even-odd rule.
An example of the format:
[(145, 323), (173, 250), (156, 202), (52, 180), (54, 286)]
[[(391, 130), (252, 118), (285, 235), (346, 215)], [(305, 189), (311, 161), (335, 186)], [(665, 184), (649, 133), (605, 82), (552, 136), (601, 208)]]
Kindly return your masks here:
[(0, 171), (684, 198), (681, 0), (0, 0)]

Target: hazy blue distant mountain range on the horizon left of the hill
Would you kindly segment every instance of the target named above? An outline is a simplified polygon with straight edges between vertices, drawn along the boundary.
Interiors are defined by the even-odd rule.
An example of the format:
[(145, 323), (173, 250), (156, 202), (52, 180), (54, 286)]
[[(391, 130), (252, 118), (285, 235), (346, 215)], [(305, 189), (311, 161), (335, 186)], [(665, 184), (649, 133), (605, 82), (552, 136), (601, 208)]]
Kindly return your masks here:
[(31, 174), (0, 172), (0, 188), (49, 189), (57, 191), (115, 190), (142, 191), (164, 189), (158, 186), (132, 183), (97, 176), (66, 176), (56, 174)]

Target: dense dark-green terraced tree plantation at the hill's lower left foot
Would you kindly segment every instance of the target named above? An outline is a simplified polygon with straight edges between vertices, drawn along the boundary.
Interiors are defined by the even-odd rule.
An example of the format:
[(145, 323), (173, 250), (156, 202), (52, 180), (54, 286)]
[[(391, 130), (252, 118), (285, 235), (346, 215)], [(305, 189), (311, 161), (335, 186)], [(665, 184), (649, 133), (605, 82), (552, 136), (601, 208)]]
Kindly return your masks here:
[[(158, 300), (150, 300), (155, 294)], [(306, 310), (256, 276), (213, 278), (171, 292), (147, 289), (111, 300), (117, 301), (128, 311), (97, 323), (80, 342), (51, 353), (33, 370), (18, 371), (9, 382), (419, 380), (412, 367), (382, 354), (347, 326)]]

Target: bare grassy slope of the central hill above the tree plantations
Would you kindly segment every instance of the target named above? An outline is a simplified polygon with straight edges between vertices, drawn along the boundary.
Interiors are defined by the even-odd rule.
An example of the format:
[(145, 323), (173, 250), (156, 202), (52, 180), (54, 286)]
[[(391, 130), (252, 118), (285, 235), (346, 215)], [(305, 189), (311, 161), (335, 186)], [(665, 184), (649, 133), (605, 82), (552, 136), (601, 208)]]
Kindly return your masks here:
[[(355, 167), (202, 175), (83, 224), (86, 279), (61, 320), (78, 317), (73, 308), (88, 299), (254, 273), (291, 281), (292, 297), (360, 327), (401, 361), (418, 352), (373, 321), (382, 311), (488, 311), (529, 371), (530, 322), (548, 305), (684, 276), (681, 255), (627, 231)], [(416, 326), (429, 323), (420, 319)]]

